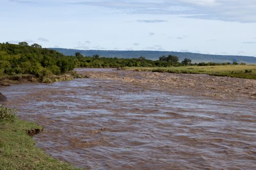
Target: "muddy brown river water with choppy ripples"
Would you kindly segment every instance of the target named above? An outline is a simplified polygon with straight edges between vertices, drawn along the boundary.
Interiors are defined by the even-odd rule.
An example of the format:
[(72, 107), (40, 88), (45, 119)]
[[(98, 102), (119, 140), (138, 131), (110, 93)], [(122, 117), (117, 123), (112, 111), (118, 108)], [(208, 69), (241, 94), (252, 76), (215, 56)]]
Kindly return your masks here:
[(91, 169), (255, 169), (256, 80), (77, 69), (89, 79), (1, 87), (44, 127), (37, 146)]

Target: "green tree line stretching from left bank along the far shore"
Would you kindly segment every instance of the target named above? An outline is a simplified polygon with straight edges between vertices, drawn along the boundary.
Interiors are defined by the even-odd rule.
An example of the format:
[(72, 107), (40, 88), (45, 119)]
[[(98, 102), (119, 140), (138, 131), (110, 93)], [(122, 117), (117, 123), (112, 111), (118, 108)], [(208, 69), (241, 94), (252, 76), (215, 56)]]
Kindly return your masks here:
[[(223, 63), (230, 64), (230, 63)], [(0, 76), (31, 74), (36, 77), (47, 75), (61, 75), (75, 67), (169, 67), (183, 65), (220, 65), (219, 63), (191, 63), (190, 59), (179, 62), (177, 56), (162, 56), (157, 61), (139, 58), (107, 58), (94, 56), (64, 56), (55, 50), (42, 48), (39, 44), (29, 45), (27, 42), (18, 44), (0, 43)]]

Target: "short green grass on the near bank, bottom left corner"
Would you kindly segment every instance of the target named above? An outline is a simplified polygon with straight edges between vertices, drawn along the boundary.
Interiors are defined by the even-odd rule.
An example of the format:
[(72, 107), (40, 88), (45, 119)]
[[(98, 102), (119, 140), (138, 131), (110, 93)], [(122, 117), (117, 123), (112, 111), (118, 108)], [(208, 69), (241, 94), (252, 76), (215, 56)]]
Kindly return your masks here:
[(0, 169), (77, 169), (35, 147), (31, 136), (41, 129), (0, 105)]

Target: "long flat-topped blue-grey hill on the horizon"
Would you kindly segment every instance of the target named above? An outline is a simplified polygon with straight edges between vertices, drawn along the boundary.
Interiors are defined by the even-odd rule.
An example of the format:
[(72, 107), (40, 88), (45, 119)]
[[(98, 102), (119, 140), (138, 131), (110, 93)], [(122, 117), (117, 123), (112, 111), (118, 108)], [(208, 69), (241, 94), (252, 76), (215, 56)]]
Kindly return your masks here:
[(256, 64), (256, 57), (249, 56), (225, 56), (225, 55), (208, 55), (197, 53), (182, 53), (182, 52), (166, 52), (166, 51), (113, 51), (113, 50), (74, 50), (67, 48), (51, 48), (66, 56), (74, 56), (76, 52), (81, 53), (83, 56), (93, 56), (98, 54), (100, 57), (117, 57), (117, 58), (138, 58), (145, 57), (146, 59), (158, 60), (161, 56), (174, 55), (179, 57), (179, 61), (184, 58), (189, 58), (193, 63), (199, 62), (238, 62), (247, 64)]

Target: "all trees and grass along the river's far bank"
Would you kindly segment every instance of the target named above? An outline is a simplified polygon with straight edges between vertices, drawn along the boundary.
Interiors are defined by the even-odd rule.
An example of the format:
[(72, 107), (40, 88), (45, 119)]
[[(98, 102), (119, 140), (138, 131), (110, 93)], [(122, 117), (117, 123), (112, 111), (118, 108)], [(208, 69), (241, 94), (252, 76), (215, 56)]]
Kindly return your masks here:
[(64, 56), (54, 50), (42, 48), (39, 44), (30, 46), (27, 42), (20, 42), (19, 44), (0, 43), (0, 80), (29, 78), (27, 79), (29, 81), (50, 83), (81, 78), (81, 75), (73, 71), (76, 67), (150, 67), (139, 70), (200, 73), (249, 79), (254, 79), (256, 72), (255, 65), (247, 66), (245, 63), (238, 65), (237, 62), (191, 63), (191, 60), (187, 58), (179, 62), (179, 58), (172, 55), (162, 56), (156, 61), (148, 60), (145, 57), (132, 59), (106, 58), (98, 55), (90, 57), (82, 56), (80, 53), (76, 53), (75, 56)]

